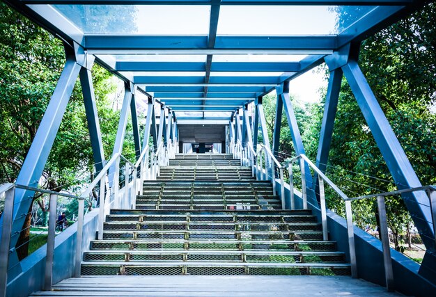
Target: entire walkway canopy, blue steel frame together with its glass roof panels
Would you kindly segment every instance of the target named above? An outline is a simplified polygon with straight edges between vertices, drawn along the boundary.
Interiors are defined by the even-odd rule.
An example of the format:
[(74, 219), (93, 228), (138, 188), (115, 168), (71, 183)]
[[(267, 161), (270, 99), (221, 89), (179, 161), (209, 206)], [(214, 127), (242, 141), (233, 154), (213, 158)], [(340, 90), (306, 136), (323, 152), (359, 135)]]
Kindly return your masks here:
[[(97, 164), (95, 170), (100, 172), (108, 159), (122, 152), (129, 113), (134, 127), (137, 158), (146, 147), (151, 146), (148, 143), (150, 136), (155, 150), (177, 141), (178, 124), (182, 123), (227, 125), (228, 147), (240, 143), (242, 147), (250, 145), (256, 150), (258, 129), (267, 135), (262, 98), (272, 90), (277, 93), (274, 139), (270, 143), (267, 137), (263, 137), (262, 145), (277, 155), (284, 111), (295, 154), (305, 154), (289, 97), (289, 81), (326, 63), (330, 77), (316, 166), (325, 172), (338, 95), (345, 76), (398, 190), (421, 186), (359, 68), (358, 58), (362, 40), (419, 10), (428, 1), (6, 0), (6, 3), (63, 40), (66, 54), (65, 67), (17, 184), (38, 186), (35, 181), (42, 174), (78, 77)], [(120, 10), (122, 14), (117, 13), (118, 8), (123, 8)], [(139, 18), (137, 24), (147, 22), (147, 17), (152, 17), (144, 13), (148, 8), (161, 13), (158, 17), (164, 21), (155, 25), (150, 23), (146, 29), (143, 26), (132, 29), (130, 22), (126, 26), (127, 23), (122, 21), (123, 18), (136, 17)], [(280, 10), (305, 11), (306, 15), (300, 19), (307, 18), (307, 21), (286, 27), (280, 25), (286, 22), (277, 19), (277, 24), (265, 25), (267, 28), (260, 34), (252, 29), (250, 31), (249, 26), (239, 28), (237, 23), (231, 23), (232, 13), (240, 13), (242, 17), (245, 12), (250, 17), (264, 9), (277, 14)], [(329, 27), (313, 15), (322, 19), (333, 17), (334, 22)], [(261, 22), (261, 17), (251, 18), (251, 25)], [(111, 18), (115, 19), (113, 24)], [(174, 24), (163, 26), (164, 22), (171, 21)], [(198, 28), (185, 26), (189, 22)], [(313, 26), (312, 23), (316, 22), (321, 23)], [(98, 23), (103, 25), (95, 26)], [(229, 26), (233, 29), (229, 30)], [(112, 156), (104, 156), (102, 150), (91, 79), (93, 63), (102, 65), (125, 82), (125, 97)], [(148, 104), (144, 131), (139, 131), (137, 118), (139, 93), (146, 95)], [(249, 117), (249, 104), (254, 104), (254, 119)], [(155, 107), (159, 110), (159, 125)], [(305, 166), (306, 187), (313, 204), (317, 205), (317, 177), (311, 176), (309, 165)], [(117, 169), (116, 164), (111, 168), (112, 172)], [(22, 227), (24, 218), (21, 214), (29, 209), (29, 200), (25, 199), (29, 195), (33, 195), (29, 188), (17, 188), (15, 191), (18, 207), (13, 213), (12, 232)], [(434, 225), (429, 223), (433, 218), (430, 208), (423, 207), (429, 205), (429, 200), (421, 192), (403, 195), (409, 198), (405, 204), (427, 249), (419, 271), (415, 272), (426, 280), (436, 282), (433, 271), (436, 266), (435, 231)], [(11, 246), (15, 243), (12, 242)], [(13, 259), (16, 255), (11, 257), (10, 262), (17, 261)], [(361, 269), (364, 270), (364, 267)], [(368, 273), (371, 272), (360, 274)]]

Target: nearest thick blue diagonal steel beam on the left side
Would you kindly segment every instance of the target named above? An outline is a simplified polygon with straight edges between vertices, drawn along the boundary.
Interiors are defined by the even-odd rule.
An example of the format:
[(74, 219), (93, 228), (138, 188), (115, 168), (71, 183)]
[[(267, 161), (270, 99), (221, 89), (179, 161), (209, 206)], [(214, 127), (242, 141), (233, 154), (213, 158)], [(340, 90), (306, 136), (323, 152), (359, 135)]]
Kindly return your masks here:
[[(61, 77), (59, 77), (52, 98), (38, 127), (38, 131), (36, 131), (35, 138), (33, 138), (29, 152), (26, 154), (26, 159), (24, 159), (16, 184), (33, 187), (38, 186), (38, 181), (44, 170), (50, 150), (52, 150), (54, 139), (61, 125), (63, 114), (65, 113), (72, 89), (75, 86), (75, 81), (79, 76), (80, 69), (81, 65), (77, 63), (75, 56), (68, 54)], [(10, 246), (12, 247), (15, 247), (17, 243), (18, 235), (20, 235), (24, 218), (26, 217), (26, 215), (23, 214), (29, 212), (34, 193), (33, 191), (26, 191), (20, 188), (15, 189), (13, 235), (10, 239)], [(2, 218), (0, 218), (0, 225), (1, 222)], [(18, 258), (15, 251), (10, 255), (9, 265), (14, 266), (17, 261)], [(17, 268), (20, 268), (20, 266), (17, 266)]]

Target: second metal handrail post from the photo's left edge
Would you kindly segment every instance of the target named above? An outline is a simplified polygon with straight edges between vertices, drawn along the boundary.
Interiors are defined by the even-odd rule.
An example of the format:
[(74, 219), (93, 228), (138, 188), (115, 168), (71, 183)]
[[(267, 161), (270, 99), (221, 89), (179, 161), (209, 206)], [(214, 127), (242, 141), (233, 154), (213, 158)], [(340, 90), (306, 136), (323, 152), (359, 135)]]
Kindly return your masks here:
[(58, 195), (50, 194), (49, 202), (49, 229), (47, 234), (47, 254), (45, 256), (45, 278), (44, 291), (52, 290), (53, 280), (53, 258), (54, 258), (54, 236), (56, 235), (56, 204)]

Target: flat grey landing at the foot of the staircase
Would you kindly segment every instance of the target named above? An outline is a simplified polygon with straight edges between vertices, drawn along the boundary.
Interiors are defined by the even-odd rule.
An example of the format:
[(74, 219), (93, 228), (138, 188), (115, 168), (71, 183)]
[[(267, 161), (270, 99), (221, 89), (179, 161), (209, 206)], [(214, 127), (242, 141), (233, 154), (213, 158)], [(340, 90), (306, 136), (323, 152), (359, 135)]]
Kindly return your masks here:
[(32, 296), (402, 296), (347, 276), (152, 275), (70, 278)]

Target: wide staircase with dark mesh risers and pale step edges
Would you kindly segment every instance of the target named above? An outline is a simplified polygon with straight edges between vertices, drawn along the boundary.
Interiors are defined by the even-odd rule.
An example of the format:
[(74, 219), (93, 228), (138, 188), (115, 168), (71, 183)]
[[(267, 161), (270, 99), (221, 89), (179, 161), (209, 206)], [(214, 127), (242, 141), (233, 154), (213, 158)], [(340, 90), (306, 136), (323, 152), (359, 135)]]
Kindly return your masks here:
[(270, 182), (231, 154), (177, 154), (112, 210), (82, 275), (349, 275), (310, 210), (283, 211)]

